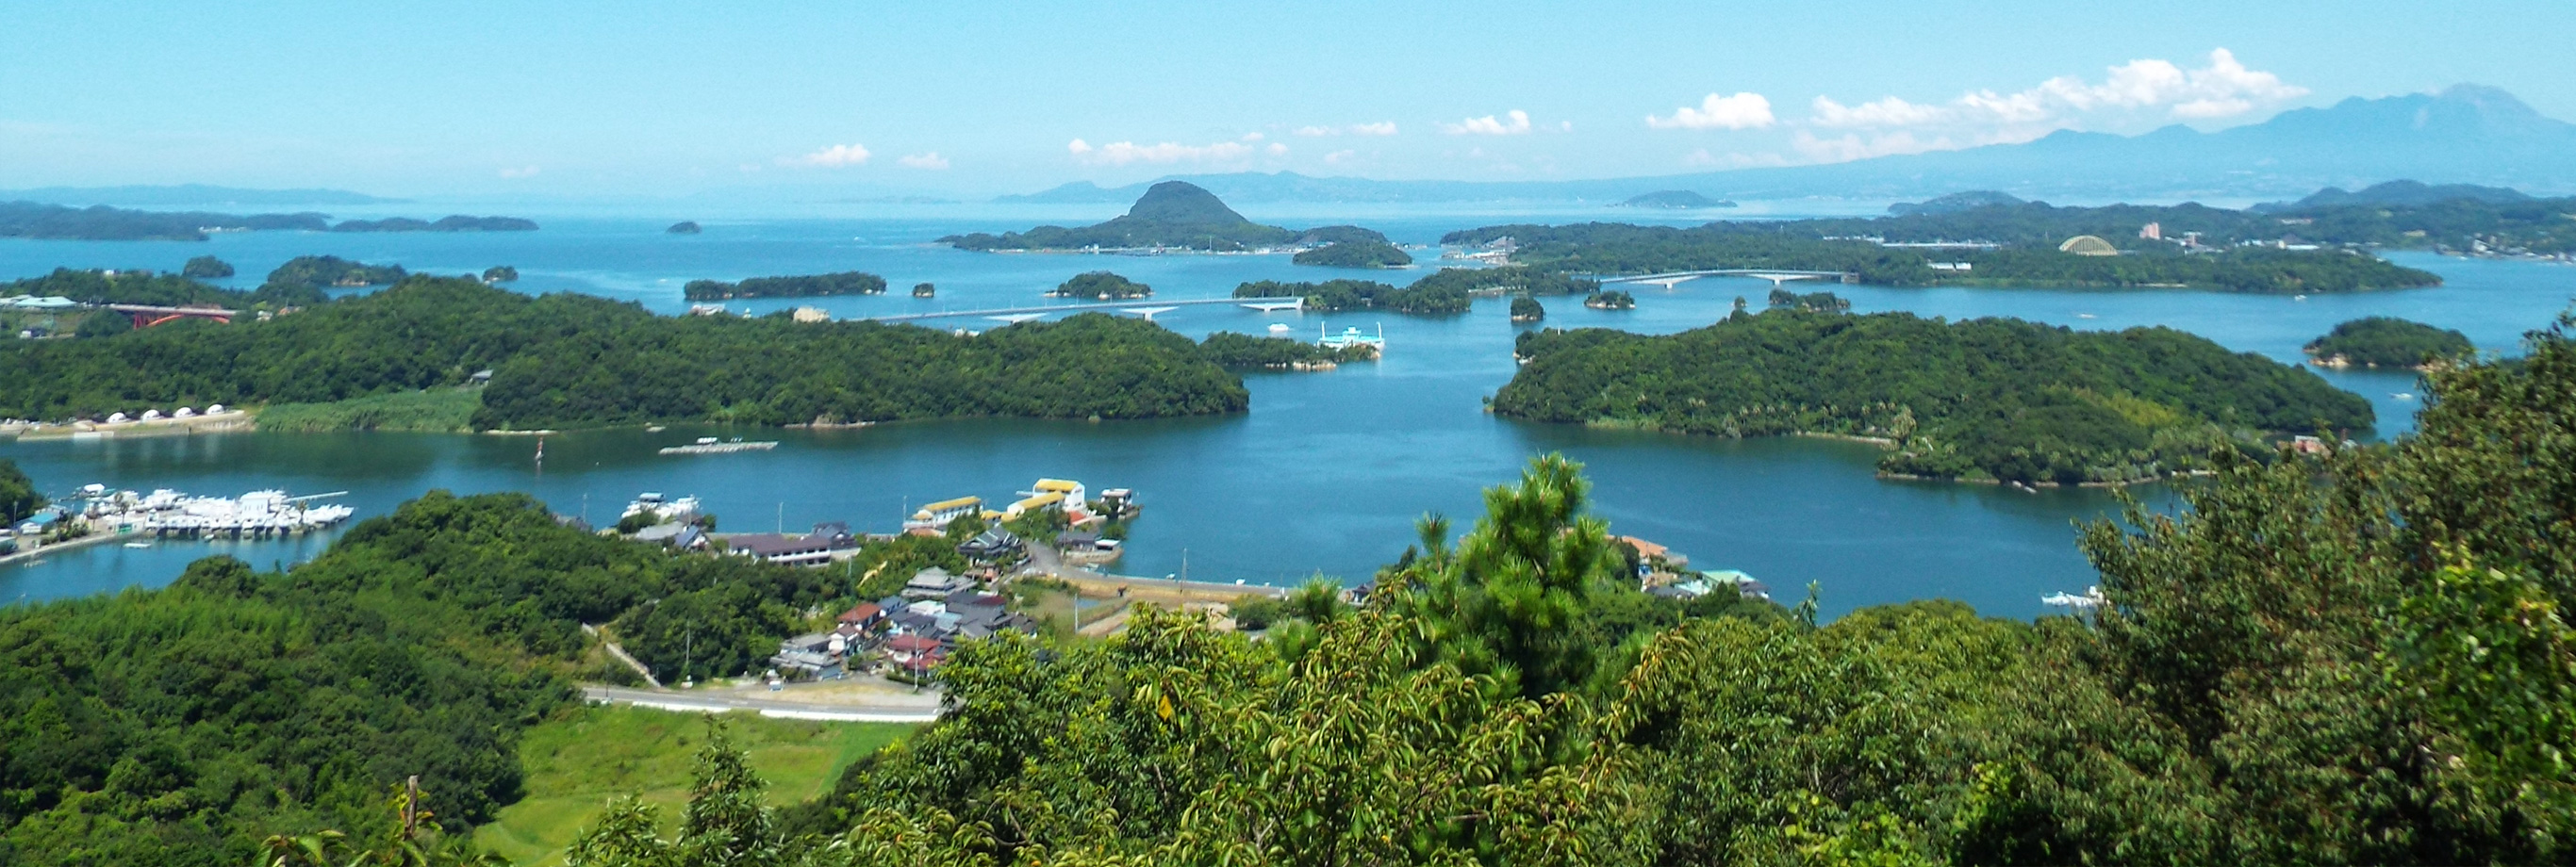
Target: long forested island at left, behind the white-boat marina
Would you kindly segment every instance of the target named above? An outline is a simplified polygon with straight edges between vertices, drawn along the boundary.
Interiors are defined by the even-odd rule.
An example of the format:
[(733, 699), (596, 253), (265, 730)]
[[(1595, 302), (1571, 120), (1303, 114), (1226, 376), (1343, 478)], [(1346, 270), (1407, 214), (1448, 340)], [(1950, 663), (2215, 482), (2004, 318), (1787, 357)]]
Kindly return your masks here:
[(103, 340), (0, 345), (0, 417), (144, 406), (330, 404), (466, 386), (477, 430), (927, 417), (1175, 417), (1247, 406), (1198, 345), (1108, 314), (961, 337), (786, 311), (654, 316), (577, 293), (412, 275), (273, 322), (173, 322)]

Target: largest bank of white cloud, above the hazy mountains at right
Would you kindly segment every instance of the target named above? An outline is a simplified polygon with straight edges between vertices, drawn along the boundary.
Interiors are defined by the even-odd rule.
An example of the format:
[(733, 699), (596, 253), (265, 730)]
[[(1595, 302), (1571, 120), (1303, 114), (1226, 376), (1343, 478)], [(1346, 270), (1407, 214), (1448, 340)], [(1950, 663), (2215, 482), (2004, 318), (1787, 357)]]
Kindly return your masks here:
[(2102, 82), (2061, 75), (2027, 90), (1973, 90), (1947, 103), (1909, 103), (1891, 95), (1844, 105), (1819, 95), (1808, 116), (1808, 123), (1819, 129), (1906, 134), (1806, 139), (1798, 149), (1883, 154), (2030, 141), (2058, 129), (2231, 118), (2300, 95), (2308, 95), (2308, 87), (2287, 85), (2272, 72), (2246, 69), (2236, 54), (2215, 49), (2197, 69), (2182, 69), (2169, 59), (2133, 59), (2105, 69)]

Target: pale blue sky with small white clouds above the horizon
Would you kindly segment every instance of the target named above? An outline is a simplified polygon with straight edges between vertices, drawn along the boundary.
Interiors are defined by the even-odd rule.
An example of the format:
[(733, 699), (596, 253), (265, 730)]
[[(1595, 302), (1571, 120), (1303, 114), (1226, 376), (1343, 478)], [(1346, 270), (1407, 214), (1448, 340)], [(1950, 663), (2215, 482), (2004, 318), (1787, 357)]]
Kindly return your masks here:
[(2486, 82), (2571, 3), (0, 3), (0, 188), (1618, 178)]

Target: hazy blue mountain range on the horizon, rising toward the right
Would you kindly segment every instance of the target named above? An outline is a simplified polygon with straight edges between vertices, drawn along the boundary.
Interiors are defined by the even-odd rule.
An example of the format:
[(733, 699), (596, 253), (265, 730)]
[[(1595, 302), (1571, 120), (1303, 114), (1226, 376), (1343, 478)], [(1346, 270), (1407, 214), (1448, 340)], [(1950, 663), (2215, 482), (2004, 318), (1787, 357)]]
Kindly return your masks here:
[[(2166, 126), (2141, 136), (2058, 131), (2025, 144), (1899, 154), (1834, 165), (1749, 167), (1610, 180), (1365, 180), (1296, 172), (1180, 175), (1234, 203), (1355, 201), (1587, 201), (1690, 190), (1708, 198), (1927, 198), (2002, 190), (2022, 198), (2298, 198), (2393, 178), (2434, 185), (2506, 185), (2576, 193), (2576, 123), (2548, 118), (2512, 93), (2455, 85), (2442, 93), (2349, 98), (2221, 131)], [(1133, 201), (1146, 183), (1066, 183), (1005, 203)]]

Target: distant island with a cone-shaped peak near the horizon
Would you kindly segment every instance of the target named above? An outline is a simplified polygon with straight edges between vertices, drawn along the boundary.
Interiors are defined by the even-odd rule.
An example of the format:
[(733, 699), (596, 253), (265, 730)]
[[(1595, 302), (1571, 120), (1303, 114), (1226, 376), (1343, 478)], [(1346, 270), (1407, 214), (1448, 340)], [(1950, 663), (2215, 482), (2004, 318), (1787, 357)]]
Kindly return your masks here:
[(1206, 250), (1244, 252), (1291, 244), (1386, 244), (1386, 234), (1360, 226), (1280, 229), (1262, 226), (1234, 214), (1216, 193), (1188, 180), (1164, 180), (1144, 190), (1128, 214), (1105, 224), (1066, 229), (1036, 226), (1028, 232), (974, 232), (951, 234), (940, 244), (956, 250)]

